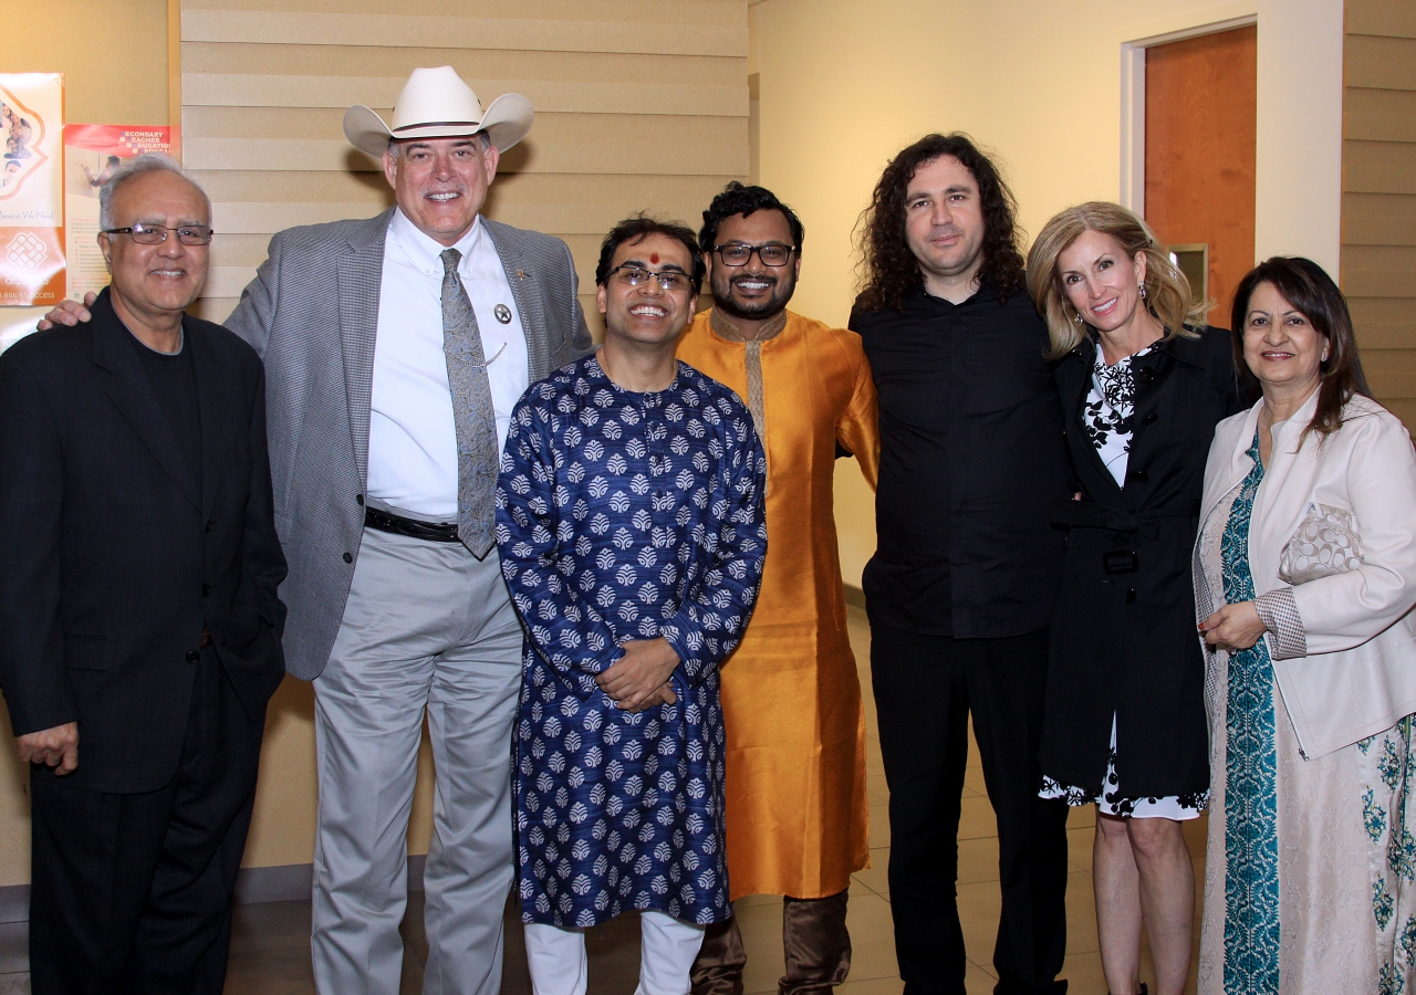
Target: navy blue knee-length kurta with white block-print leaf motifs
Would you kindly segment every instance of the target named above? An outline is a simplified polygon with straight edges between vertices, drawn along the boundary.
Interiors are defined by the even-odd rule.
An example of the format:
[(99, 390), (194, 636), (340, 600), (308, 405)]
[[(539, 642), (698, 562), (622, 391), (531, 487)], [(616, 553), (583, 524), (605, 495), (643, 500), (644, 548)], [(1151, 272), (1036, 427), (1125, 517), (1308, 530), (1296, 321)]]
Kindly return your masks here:
[[(513, 771), (525, 921), (728, 917), (718, 664), (758, 593), (762, 494), (748, 409), (683, 362), (667, 391), (634, 393), (586, 357), (513, 412), (497, 545), (528, 634)], [(595, 677), (654, 637), (683, 661), (678, 702), (623, 712)]]

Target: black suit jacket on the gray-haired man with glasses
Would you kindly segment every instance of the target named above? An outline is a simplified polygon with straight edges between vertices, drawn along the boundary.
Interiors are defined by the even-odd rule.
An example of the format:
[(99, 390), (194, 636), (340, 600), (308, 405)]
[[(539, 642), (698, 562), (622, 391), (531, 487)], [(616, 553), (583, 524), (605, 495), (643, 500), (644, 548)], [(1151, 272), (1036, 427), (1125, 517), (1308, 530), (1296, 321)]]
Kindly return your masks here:
[(75, 786), (177, 770), (202, 628), (248, 716), (285, 669), (265, 374), (184, 318), (201, 487), (105, 290), (93, 320), (0, 355), (0, 689), (14, 733), (79, 723)]

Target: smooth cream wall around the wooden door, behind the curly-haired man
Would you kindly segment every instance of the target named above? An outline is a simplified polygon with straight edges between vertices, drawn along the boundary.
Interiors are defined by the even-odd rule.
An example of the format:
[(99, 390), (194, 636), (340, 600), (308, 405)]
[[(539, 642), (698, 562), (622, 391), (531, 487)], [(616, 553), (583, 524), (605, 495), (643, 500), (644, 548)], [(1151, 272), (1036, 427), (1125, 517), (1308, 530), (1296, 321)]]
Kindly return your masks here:
[[(927, 132), (993, 149), (1028, 232), (1069, 204), (1120, 198), (1134, 137), (1123, 130), (1123, 44), (1242, 18), (1259, 23), (1257, 252), (1303, 252), (1335, 270), (1341, 17), (1341, 0), (759, 0), (749, 72), (760, 181), (807, 228), (793, 307), (845, 321), (855, 219), (888, 159)], [(843, 573), (860, 583), (874, 500), (848, 461), (837, 524)]]

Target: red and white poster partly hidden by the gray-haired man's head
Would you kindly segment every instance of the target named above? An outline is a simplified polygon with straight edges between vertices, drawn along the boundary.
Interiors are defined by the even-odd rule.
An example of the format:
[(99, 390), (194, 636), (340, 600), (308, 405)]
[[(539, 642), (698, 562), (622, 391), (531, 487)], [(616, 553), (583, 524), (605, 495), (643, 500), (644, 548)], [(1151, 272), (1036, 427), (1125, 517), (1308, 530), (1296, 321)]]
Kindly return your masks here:
[(108, 286), (108, 266), (98, 248), (98, 191), (125, 159), (144, 151), (171, 154), (171, 133), (163, 125), (64, 126), (64, 234), (68, 296), (84, 300)]

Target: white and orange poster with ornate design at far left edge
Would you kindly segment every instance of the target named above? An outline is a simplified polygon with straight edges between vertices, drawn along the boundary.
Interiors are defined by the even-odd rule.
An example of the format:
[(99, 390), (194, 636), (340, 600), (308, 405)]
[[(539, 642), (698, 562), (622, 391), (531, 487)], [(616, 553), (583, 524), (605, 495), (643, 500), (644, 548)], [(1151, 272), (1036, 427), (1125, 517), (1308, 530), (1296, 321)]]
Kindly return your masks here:
[(0, 74), (0, 306), (64, 297), (64, 76)]

